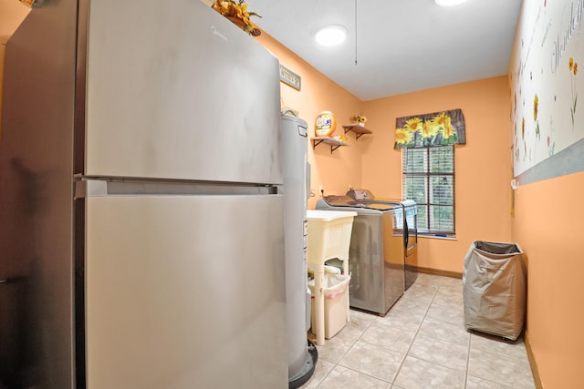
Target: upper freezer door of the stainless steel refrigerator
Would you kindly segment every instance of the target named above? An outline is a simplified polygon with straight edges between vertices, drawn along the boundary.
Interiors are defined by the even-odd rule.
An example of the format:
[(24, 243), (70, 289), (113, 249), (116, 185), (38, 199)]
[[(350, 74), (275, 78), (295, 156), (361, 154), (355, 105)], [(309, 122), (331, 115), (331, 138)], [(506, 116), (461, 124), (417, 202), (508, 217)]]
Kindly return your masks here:
[(193, 0), (92, 1), (88, 25), (76, 173), (282, 183), (279, 66), (253, 37)]

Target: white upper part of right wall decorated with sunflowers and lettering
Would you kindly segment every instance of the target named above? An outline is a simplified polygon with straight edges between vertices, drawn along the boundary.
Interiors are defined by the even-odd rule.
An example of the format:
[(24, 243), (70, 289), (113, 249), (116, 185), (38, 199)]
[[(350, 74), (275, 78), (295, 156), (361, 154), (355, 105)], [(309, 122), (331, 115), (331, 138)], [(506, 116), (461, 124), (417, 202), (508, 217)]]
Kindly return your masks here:
[(578, 107), (584, 89), (584, 77), (578, 75), (583, 9), (584, 0), (523, 0), (509, 67), (515, 177), (527, 170), (534, 177), (532, 168), (550, 157), (545, 171), (561, 175), (566, 168), (557, 162), (560, 154), (584, 141), (584, 109)]

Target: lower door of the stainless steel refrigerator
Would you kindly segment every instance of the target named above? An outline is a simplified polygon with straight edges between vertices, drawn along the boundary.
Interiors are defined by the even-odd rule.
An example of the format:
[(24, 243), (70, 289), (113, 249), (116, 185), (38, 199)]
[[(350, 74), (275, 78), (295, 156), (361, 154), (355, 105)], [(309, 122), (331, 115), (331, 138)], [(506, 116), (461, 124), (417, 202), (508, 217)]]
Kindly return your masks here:
[(86, 200), (87, 387), (287, 387), (282, 196)]

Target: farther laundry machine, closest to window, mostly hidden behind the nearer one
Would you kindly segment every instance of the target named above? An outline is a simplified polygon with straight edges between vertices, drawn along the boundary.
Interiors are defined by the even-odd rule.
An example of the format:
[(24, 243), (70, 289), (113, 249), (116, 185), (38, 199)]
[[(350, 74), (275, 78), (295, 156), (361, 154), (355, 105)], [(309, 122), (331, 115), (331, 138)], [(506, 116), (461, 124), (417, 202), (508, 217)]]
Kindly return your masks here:
[(350, 189), (347, 196), (363, 204), (399, 203), (403, 209), (403, 217), (398, 220), (403, 231), (403, 247), (405, 262), (405, 289), (408, 290), (418, 278), (418, 207), (414, 200), (395, 200), (375, 197), (367, 189)]

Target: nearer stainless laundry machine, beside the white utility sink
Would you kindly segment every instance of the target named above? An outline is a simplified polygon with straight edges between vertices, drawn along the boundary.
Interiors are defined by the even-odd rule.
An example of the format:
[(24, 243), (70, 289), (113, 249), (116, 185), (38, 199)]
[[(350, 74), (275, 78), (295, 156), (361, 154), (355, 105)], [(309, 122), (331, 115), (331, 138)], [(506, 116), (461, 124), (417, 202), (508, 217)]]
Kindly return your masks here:
[(349, 306), (384, 316), (405, 290), (403, 207), (400, 203), (326, 196), (318, 210), (353, 210)]

